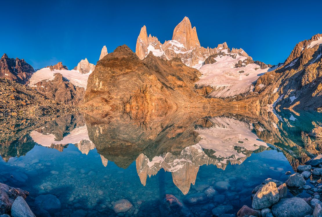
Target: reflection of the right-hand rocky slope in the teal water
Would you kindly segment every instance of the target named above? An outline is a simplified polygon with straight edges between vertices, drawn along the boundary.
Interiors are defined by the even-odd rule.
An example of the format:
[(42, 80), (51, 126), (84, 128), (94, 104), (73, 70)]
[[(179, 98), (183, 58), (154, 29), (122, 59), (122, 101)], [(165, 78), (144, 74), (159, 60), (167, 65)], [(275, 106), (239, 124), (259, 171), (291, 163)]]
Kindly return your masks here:
[(279, 148), (294, 169), (308, 161), (314, 154), (321, 153), (321, 139), (310, 135), (312, 129), (322, 125), (321, 113), (306, 111), (291, 113), (288, 110), (281, 110), (274, 114), (260, 110), (254, 119), (258, 137)]

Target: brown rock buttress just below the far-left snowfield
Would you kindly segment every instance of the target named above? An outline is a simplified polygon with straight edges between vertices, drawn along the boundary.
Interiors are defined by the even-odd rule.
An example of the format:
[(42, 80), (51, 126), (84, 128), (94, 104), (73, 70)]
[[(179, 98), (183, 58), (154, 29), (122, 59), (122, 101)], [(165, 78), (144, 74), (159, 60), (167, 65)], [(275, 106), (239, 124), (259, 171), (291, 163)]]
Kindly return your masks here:
[(60, 73), (55, 73), (53, 80), (40, 81), (32, 88), (49, 99), (67, 105), (80, 104), (85, 94), (83, 87), (75, 86)]

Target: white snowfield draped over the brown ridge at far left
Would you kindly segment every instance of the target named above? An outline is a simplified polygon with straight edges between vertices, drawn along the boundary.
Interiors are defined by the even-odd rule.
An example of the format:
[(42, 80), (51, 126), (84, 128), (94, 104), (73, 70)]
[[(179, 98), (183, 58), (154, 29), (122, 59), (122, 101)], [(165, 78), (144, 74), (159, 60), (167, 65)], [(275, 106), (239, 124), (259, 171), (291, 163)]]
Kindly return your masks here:
[(72, 84), (74, 84), (75, 86), (83, 87), (84, 89), (86, 89), (87, 87), (88, 76), (91, 74), (91, 72), (87, 74), (81, 74), (76, 70), (54, 69), (53, 71), (51, 71), (50, 68), (42, 68), (32, 75), (32, 77), (30, 78), (29, 86), (34, 87), (37, 82), (43, 80), (51, 81), (54, 79), (55, 73), (62, 74), (62, 76), (68, 79)]

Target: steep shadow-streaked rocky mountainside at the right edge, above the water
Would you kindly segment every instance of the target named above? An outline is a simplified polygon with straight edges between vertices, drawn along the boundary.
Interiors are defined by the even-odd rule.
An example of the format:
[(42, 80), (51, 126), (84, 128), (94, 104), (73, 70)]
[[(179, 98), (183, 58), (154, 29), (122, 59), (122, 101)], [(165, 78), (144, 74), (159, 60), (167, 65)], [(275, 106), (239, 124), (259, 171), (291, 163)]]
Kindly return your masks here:
[[(255, 91), (261, 106), (301, 110), (322, 107), (322, 35), (299, 42), (282, 66), (262, 75)], [(265, 88), (261, 89), (265, 85)]]

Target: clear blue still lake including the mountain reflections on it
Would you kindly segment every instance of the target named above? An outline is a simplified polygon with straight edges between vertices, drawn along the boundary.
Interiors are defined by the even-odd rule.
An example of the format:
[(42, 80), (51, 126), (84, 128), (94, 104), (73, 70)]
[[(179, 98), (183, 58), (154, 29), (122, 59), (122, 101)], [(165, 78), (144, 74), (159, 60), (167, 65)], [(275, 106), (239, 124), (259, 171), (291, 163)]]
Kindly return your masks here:
[[(251, 206), (255, 186), (269, 177), (285, 182), (285, 173), (311, 156), (312, 150), (301, 148), (308, 148), (303, 138), (309, 136), (303, 133), (314, 128), (309, 119), (317, 121), (319, 114), (303, 114), (304, 120), (295, 121), (287, 115), (283, 122), (270, 116), (265, 122), (206, 117), (192, 124), (197, 132), (193, 136), (187, 127), (169, 137), (182, 126), (166, 127), (154, 142), (165, 143), (162, 133), (174, 142), (160, 150), (150, 140), (144, 148), (139, 144), (127, 149), (120, 143), (126, 131), (115, 133), (82, 115), (59, 117), (10, 145), (2, 144), (0, 182), (30, 192), (26, 201), (34, 212), (37, 196), (55, 195), (62, 208), (52, 216), (160, 216), (166, 194), (181, 200), (195, 216), (211, 216), (215, 208), (236, 213), (243, 205)], [(137, 134), (136, 141), (144, 143), (143, 134)], [(189, 139), (192, 145), (182, 146)], [(201, 195), (206, 197), (189, 202)], [(121, 199), (133, 207), (117, 214), (113, 204)]]

